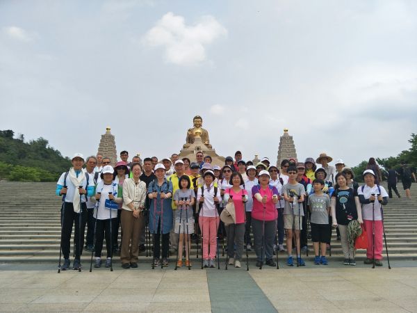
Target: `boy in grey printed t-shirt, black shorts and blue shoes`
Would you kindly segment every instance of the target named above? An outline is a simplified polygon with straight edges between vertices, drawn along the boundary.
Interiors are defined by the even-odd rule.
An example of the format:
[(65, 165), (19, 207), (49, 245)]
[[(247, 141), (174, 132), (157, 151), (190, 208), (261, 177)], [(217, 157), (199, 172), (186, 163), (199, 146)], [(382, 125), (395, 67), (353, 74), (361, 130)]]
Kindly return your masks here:
[[(329, 213), (330, 213), (330, 198), (329, 195), (323, 193), (322, 189), (325, 186), (325, 181), (319, 178), (313, 180), (314, 193), (309, 195), (307, 205), (309, 206), (311, 216), (311, 240), (314, 248), (314, 264), (328, 265), (326, 259), (326, 246), (329, 241)], [(321, 258), (319, 255), (319, 246), (321, 251)]]

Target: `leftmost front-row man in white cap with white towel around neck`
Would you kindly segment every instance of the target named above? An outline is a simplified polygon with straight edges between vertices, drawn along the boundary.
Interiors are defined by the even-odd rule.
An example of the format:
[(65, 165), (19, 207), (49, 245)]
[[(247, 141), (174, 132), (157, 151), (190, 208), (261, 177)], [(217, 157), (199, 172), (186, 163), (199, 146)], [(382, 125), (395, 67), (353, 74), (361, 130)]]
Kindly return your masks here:
[[(81, 268), (80, 257), (83, 252), (85, 222), (87, 221), (87, 197), (94, 195), (92, 181), (87, 182), (87, 176), (83, 172), (84, 157), (76, 153), (72, 157), (72, 168), (60, 175), (56, 184), (56, 195), (63, 195), (61, 207), (61, 250), (64, 256), (62, 271), (70, 268), (70, 240), (72, 225), (74, 228), (75, 259), (72, 269)], [(80, 217), (81, 214), (81, 217)], [(81, 222), (81, 225), (80, 225)]]

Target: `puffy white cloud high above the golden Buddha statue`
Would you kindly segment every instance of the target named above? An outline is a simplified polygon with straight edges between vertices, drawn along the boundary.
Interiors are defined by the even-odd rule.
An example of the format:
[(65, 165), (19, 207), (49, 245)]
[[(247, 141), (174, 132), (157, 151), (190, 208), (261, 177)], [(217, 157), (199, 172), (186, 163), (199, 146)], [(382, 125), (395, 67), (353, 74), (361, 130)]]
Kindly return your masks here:
[(165, 14), (145, 35), (145, 44), (165, 47), (165, 60), (177, 65), (196, 65), (206, 60), (206, 46), (227, 30), (211, 15), (187, 26), (182, 16)]

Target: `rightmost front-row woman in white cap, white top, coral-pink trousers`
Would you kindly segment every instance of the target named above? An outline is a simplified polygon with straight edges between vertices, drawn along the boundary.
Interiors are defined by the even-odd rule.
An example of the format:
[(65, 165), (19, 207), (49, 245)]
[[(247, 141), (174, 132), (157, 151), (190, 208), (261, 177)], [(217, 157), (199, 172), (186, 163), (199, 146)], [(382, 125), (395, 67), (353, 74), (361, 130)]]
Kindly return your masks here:
[[(368, 248), (366, 248), (365, 264), (382, 266), (382, 216), (381, 205), (388, 203), (388, 193), (384, 187), (375, 184), (377, 176), (373, 170), (363, 172), (365, 185), (358, 188), (359, 201), (362, 204), (362, 218), (368, 236)], [(375, 236), (373, 236), (375, 230)], [(375, 246), (375, 248), (374, 248)]]

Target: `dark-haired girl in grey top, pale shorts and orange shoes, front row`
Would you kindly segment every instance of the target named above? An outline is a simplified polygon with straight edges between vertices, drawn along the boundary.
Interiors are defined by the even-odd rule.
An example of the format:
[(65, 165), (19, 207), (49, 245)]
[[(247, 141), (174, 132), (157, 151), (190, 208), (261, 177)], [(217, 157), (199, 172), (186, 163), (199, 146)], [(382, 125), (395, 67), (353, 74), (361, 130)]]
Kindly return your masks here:
[(194, 232), (193, 204), (195, 202), (195, 193), (190, 189), (191, 182), (187, 175), (179, 178), (179, 186), (180, 189), (174, 193), (174, 202), (177, 205), (174, 231), (179, 234), (177, 267), (181, 267), (183, 264), (184, 242), (186, 247), (186, 266), (191, 266), (188, 252), (191, 246), (190, 234)]

